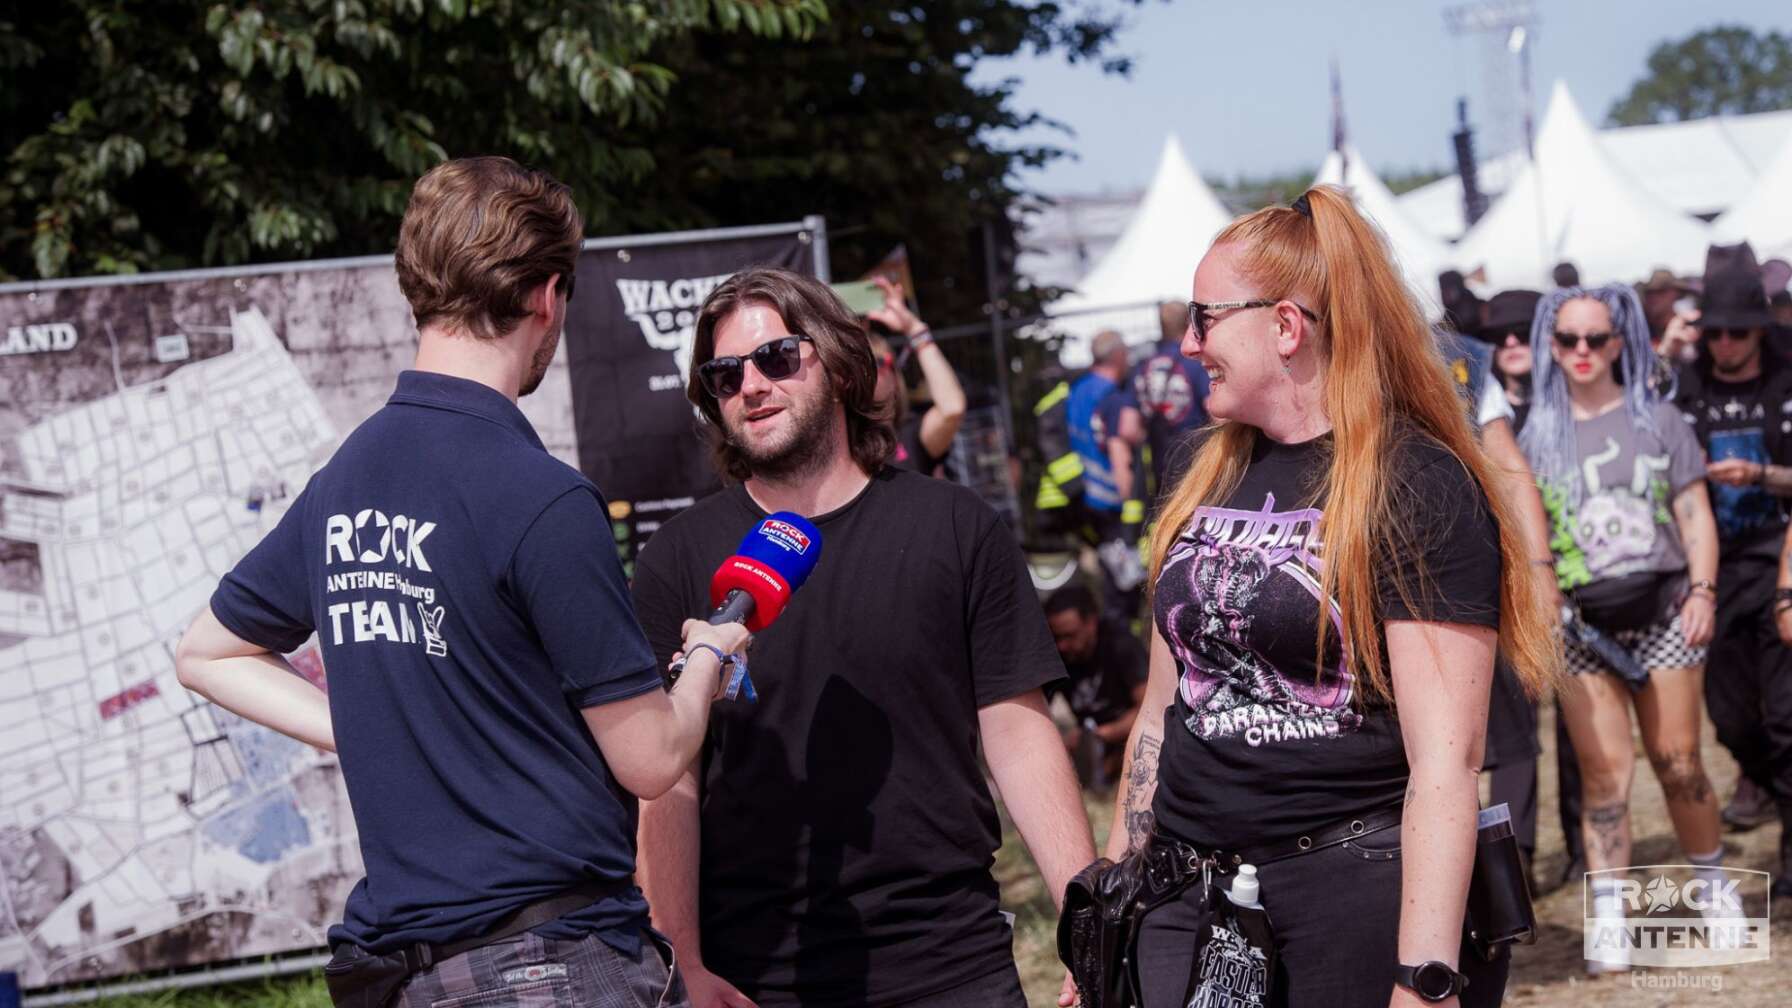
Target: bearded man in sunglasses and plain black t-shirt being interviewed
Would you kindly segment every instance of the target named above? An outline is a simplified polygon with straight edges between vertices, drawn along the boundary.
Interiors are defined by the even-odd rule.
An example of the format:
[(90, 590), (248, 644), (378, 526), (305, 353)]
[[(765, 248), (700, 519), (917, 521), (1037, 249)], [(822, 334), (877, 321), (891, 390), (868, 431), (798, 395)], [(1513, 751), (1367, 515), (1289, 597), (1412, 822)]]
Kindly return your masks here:
[(686, 777), (642, 809), (654, 922), (701, 1008), (1020, 1008), (989, 865), (1002, 802), (1047, 890), (1093, 859), (1039, 689), (1063, 662), (1014, 536), (894, 450), (858, 321), (814, 278), (749, 269), (697, 316), (690, 400), (731, 486), (642, 549), (659, 660), (769, 513), (821, 558), (758, 633), (758, 703), (717, 707)]

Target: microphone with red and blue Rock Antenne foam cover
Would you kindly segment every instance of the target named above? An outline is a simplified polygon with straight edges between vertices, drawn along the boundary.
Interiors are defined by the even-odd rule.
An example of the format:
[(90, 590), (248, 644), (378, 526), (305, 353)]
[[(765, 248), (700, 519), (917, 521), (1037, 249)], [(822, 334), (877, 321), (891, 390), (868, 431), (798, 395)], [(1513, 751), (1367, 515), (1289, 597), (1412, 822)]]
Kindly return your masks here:
[[(715, 606), (710, 622), (744, 622), (753, 633), (765, 630), (808, 581), (817, 560), (821, 531), (808, 518), (792, 511), (767, 515), (710, 578), (710, 604)], [(744, 691), (749, 703), (758, 700), (747, 678), (747, 656), (735, 656), (733, 667), (724, 696), (733, 700)]]

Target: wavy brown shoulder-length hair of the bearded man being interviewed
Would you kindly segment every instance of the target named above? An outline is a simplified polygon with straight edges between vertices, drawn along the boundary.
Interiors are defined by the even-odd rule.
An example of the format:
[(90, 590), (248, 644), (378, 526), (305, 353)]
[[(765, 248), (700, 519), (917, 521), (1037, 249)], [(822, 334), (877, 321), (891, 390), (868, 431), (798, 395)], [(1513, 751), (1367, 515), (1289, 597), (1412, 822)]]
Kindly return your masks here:
[(788, 269), (744, 269), (710, 292), (697, 312), (697, 335), (690, 350), (690, 378), (685, 395), (702, 413), (704, 436), (715, 456), (715, 468), (729, 479), (745, 481), (753, 465), (745, 452), (728, 439), (722, 425), (722, 404), (697, 378), (697, 368), (715, 357), (715, 326), (747, 305), (765, 305), (778, 312), (785, 328), (806, 335), (815, 344), (815, 357), (833, 386), (835, 398), (846, 407), (846, 443), (853, 461), (867, 474), (878, 472), (896, 450), (896, 429), (891, 425), (889, 405), (878, 404), (878, 364), (858, 317), (814, 276)]

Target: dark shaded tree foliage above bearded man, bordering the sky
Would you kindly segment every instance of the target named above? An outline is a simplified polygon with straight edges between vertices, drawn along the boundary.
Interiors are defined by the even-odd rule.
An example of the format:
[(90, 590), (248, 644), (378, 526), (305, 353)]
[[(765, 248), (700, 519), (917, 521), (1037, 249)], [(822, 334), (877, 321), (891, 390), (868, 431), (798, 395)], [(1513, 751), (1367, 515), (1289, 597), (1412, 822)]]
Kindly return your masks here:
[[(857, 276), (905, 244), (925, 317), (982, 319), (982, 226), (1005, 246), (1018, 172), (1064, 152), (1014, 142), (1052, 120), (1016, 106), (1016, 81), (973, 68), (1055, 54), (1124, 74), (1113, 43), (1136, 2), (839, 4), (808, 41), (676, 39), (654, 54), (679, 79), (663, 127), (609, 133), (650, 149), (659, 167), (615, 194), (606, 221), (649, 231), (823, 213), (835, 276)], [(1012, 312), (1038, 301), (998, 280), (1004, 294)]]

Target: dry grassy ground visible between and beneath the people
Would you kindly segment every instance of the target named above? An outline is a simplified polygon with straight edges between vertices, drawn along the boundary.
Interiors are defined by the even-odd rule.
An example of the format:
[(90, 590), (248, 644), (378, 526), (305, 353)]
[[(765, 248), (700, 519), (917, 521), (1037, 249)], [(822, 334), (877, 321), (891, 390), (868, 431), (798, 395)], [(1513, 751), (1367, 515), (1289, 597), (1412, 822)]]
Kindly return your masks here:
[[(1717, 746), (1706, 726), (1704, 759), (1711, 782), (1720, 796), (1729, 796), (1736, 782), (1736, 766)], [(1541, 879), (1557, 877), (1563, 870), (1561, 829), (1555, 821), (1555, 762), (1554, 726), (1545, 716), (1539, 732), (1545, 753), (1539, 760), (1543, 809), (1539, 821), (1536, 873)], [(1649, 771), (1649, 762), (1638, 748), (1638, 777), (1631, 805), (1638, 865), (1679, 861), (1679, 848), (1668, 825), (1661, 789)], [(1113, 805), (1109, 800), (1088, 798), (1095, 836), (1107, 836)], [(996, 856), (996, 879), (1002, 882), (1002, 902), (1014, 913), (1014, 954), (1020, 961), (1021, 985), (1034, 1008), (1055, 1004), (1063, 981), (1057, 961), (1057, 915), (1045, 891), (1025, 847), (1012, 836), (1005, 838)], [(1762, 827), (1745, 834), (1726, 836), (1726, 861), (1736, 868), (1760, 868), (1778, 873), (1778, 827)], [(1098, 845), (1097, 845), (1098, 848)], [(1539, 936), (1534, 945), (1518, 947), (1512, 956), (1512, 981), (1505, 1004), (1511, 1008), (1663, 1008), (1663, 1006), (1724, 1006), (1724, 1008), (1785, 1008), (1792, 1004), (1792, 906), (1781, 902), (1783, 920), (1776, 922), (1772, 943), (1781, 952), (1770, 961), (1710, 970), (1633, 970), (1598, 979), (1584, 976), (1581, 958), (1581, 886), (1568, 884), (1538, 900)], [(1672, 988), (1663, 985), (1702, 985)], [(1717, 988), (1713, 988), (1713, 983)], [(285, 979), (247, 985), (170, 990), (161, 994), (115, 997), (102, 1004), (109, 1008), (328, 1008), (321, 976), (305, 974)]]

